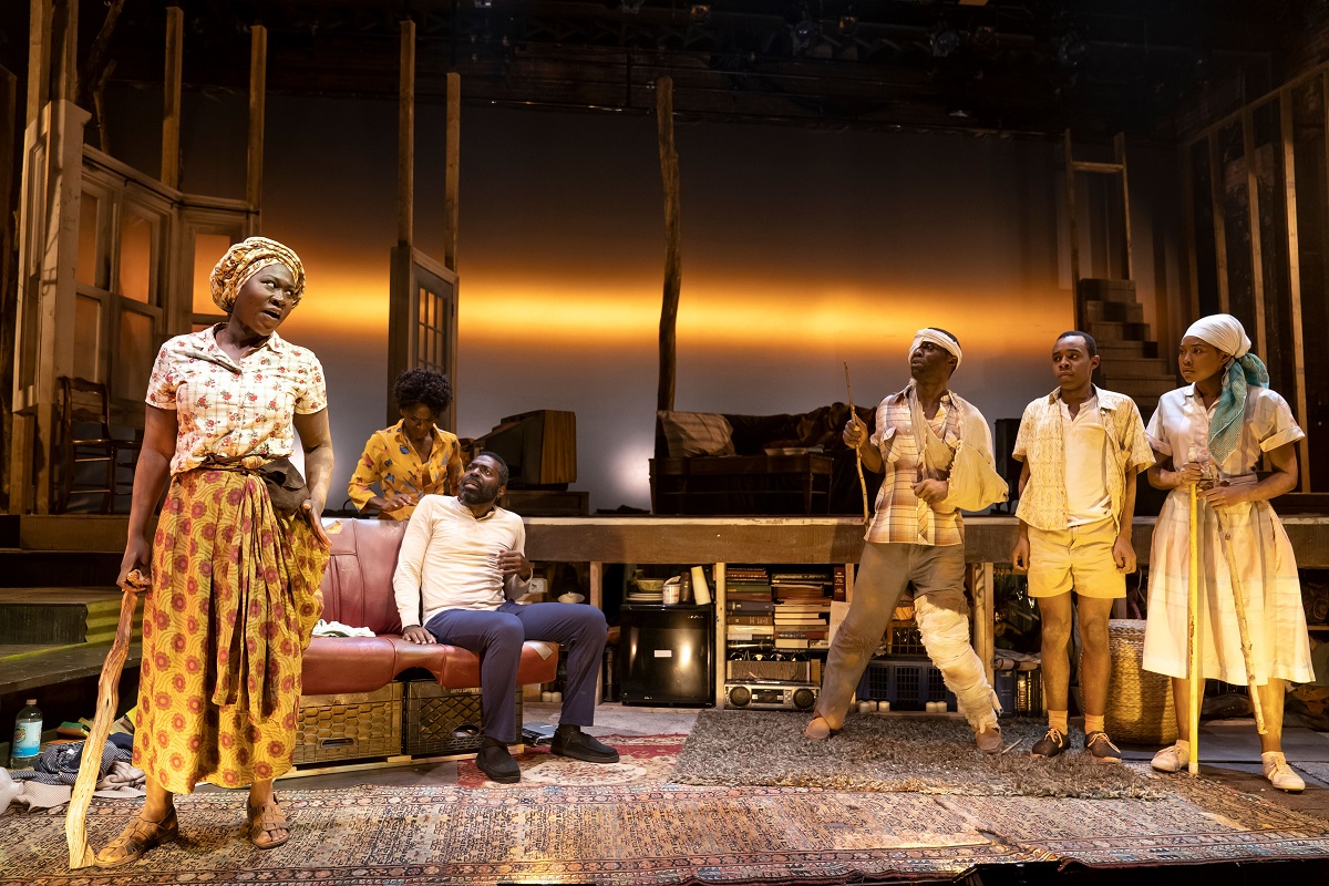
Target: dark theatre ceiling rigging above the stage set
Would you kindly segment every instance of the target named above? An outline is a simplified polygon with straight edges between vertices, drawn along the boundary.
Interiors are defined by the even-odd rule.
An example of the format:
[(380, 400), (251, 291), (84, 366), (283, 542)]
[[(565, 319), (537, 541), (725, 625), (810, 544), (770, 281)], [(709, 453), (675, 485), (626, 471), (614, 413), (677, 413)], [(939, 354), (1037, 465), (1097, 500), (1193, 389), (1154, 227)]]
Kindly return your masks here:
[[(82, 3), (90, 46), (117, 0)], [(0, 4), (24, 68), (27, 3)], [(272, 92), (389, 98), (399, 23), (417, 24), (416, 97), (460, 72), (469, 104), (653, 113), (670, 74), (682, 121), (1175, 138), (1208, 90), (1276, 85), (1322, 0), (186, 0), (185, 81), (245, 89), (246, 32), (270, 35)], [(112, 82), (159, 82), (159, 0), (124, 0)], [(1240, 96), (1233, 97), (1235, 101)], [(1221, 98), (1220, 98), (1221, 101)], [(1184, 124), (1183, 124), (1184, 126)]]

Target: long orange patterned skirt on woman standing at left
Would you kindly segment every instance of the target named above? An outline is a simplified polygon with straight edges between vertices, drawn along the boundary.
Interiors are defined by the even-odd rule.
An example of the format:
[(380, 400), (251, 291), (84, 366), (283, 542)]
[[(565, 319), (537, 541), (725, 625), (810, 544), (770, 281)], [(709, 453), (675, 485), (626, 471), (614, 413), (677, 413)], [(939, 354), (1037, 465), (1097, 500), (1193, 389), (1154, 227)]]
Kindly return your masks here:
[(300, 654), (323, 608), (328, 554), (260, 477), (171, 478), (144, 603), (134, 765), (171, 793), (238, 788), (291, 768)]

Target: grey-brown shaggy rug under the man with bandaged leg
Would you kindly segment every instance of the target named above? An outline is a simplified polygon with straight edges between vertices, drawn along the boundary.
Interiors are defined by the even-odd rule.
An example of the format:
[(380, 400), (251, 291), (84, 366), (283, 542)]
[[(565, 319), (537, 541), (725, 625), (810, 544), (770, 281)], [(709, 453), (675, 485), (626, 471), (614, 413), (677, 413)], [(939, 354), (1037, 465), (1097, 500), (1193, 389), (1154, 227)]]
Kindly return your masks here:
[(1074, 727), (1063, 754), (1030, 757), (1030, 748), (1047, 731), (1045, 720), (1002, 720), (1005, 743), (1015, 747), (1001, 756), (981, 753), (969, 724), (958, 717), (851, 713), (844, 729), (828, 741), (803, 736), (808, 720), (807, 713), (785, 711), (702, 711), (672, 780), (991, 797), (1175, 796), (1147, 766), (1091, 762), (1083, 753), (1084, 733)]

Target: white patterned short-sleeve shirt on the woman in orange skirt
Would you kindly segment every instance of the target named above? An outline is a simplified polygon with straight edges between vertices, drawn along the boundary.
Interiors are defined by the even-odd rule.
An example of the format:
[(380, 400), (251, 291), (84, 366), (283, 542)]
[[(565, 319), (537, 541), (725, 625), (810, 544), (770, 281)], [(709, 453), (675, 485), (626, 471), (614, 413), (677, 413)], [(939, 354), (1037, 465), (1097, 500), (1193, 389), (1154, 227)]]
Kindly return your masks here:
[(177, 413), (171, 474), (209, 456), (279, 458), (295, 452), (295, 416), (327, 408), (323, 367), (275, 332), (239, 363), (217, 344), (221, 324), (179, 335), (157, 355), (148, 405)]

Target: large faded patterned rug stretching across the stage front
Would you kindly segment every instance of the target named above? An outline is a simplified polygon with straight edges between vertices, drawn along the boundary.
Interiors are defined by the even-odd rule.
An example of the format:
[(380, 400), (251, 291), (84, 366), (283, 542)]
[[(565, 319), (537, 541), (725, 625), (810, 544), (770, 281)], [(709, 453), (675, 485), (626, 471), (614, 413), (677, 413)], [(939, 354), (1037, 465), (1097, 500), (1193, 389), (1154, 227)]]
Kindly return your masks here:
[[(243, 792), (179, 797), (182, 840), (110, 871), (66, 869), (62, 814), (9, 816), (0, 885), (845, 883), (1031, 861), (1329, 859), (1329, 821), (1185, 776), (1166, 778), (1170, 802), (695, 786), (661, 777), (680, 736), (606, 740), (617, 766), (586, 770), (541, 748), (522, 754), (518, 785), (489, 785), (473, 766), (459, 786), (283, 782), (292, 836), (268, 851), (241, 837)], [(96, 801), (92, 843), (137, 809)]]

